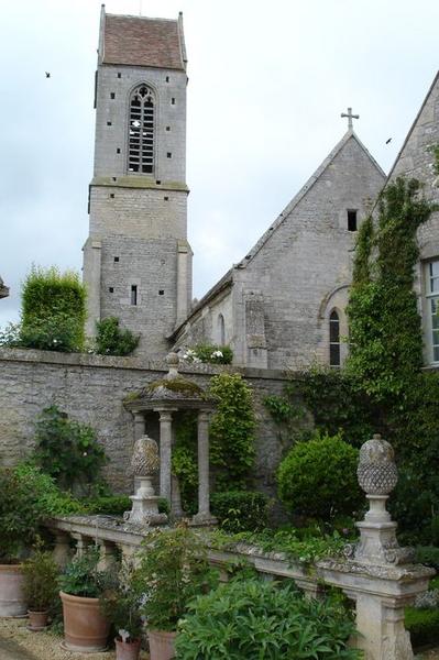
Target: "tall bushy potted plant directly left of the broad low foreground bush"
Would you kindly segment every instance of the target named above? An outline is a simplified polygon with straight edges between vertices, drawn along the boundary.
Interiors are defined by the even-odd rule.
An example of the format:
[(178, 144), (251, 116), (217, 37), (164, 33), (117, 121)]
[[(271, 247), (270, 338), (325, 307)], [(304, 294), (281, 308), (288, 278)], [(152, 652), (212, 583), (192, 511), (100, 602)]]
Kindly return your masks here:
[(178, 620), (194, 596), (218, 583), (218, 572), (209, 566), (202, 541), (186, 525), (151, 532), (143, 541), (139, 562), (150, 657), (171, 660)]

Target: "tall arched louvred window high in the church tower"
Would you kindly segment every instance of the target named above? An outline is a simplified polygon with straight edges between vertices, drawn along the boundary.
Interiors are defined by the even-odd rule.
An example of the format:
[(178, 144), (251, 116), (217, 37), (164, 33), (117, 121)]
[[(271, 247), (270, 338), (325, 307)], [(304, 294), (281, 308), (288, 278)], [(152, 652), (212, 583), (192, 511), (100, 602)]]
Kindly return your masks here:
[(128, 128), (128, 170), (154, 172), (154, 91), (139, 85), (130, 96)]

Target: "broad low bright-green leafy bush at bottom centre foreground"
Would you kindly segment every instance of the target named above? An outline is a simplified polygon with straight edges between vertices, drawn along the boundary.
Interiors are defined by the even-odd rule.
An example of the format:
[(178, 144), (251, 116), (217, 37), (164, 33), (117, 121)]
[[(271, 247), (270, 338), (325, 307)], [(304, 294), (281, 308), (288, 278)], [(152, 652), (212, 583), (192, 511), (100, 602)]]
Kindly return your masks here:
[(354, 626), (345, 612), (303, 597), (290, 582), (232, 581), (188, 608), (178, 627), (178, 660), (360, 658), (348, 648)]

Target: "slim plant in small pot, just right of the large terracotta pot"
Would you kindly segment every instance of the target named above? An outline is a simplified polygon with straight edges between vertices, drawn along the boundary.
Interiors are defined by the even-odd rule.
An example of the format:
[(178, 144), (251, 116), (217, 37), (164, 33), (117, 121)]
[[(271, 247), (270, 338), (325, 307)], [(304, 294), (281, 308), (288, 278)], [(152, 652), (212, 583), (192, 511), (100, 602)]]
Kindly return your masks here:
[(143, 628), (140, 613), (142, 585), (134, 564), (122, 560), (114, 586), (100, 597), (101, 610), (114, 626), (116, 660), (138, 660)]

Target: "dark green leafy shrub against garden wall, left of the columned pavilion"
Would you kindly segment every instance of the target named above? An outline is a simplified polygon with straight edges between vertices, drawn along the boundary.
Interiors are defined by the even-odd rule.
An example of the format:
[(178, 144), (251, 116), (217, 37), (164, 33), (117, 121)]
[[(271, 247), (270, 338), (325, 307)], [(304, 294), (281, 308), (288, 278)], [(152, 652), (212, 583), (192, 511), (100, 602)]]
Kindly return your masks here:
[(90, 426), (50, 406), (35, 425), (35, 461), (62, 487), (85, 488), (98, 481), (107, 458)]

